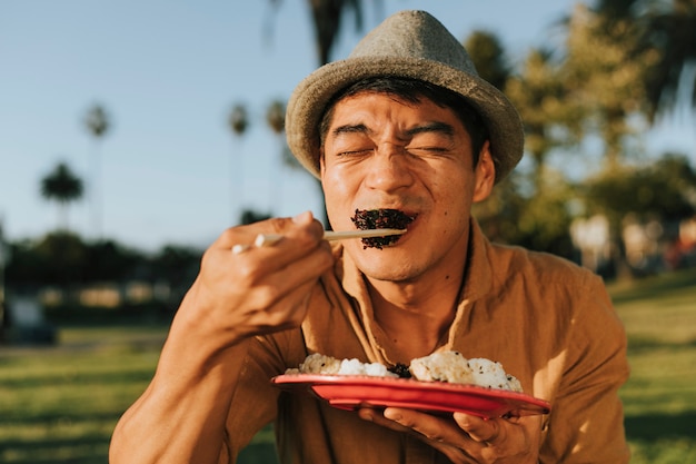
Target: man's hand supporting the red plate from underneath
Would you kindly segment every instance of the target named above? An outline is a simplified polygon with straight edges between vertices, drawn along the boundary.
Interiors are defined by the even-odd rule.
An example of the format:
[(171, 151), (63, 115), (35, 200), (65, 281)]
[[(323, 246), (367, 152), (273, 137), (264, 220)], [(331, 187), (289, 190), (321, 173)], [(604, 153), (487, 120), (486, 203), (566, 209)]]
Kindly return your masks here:
[(536, 464), (541, 416), (491, 418), (455, 413), (453, 418), (388, 407), (358, 414), (397, 432), (417, 436), (455, 464)]

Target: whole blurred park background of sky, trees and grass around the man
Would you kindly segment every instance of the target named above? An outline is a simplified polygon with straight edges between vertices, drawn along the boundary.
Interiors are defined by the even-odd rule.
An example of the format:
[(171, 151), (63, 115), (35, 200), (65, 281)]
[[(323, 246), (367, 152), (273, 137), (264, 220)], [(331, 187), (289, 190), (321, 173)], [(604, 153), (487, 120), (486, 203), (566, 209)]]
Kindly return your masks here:
[[(0, 461), (106, 462), (202, 249), (230, 225), (322, 217), (288, 162), (294, 86), (420, 8), (527, 122), (477, 218), (606, 278), (634, 462), (696, 462), (696, 2), (309, 3), (0, 6)], [(315, 21), (338, 31), (324, 53)], [(271, 440), (245, 462), (274, 462)]]

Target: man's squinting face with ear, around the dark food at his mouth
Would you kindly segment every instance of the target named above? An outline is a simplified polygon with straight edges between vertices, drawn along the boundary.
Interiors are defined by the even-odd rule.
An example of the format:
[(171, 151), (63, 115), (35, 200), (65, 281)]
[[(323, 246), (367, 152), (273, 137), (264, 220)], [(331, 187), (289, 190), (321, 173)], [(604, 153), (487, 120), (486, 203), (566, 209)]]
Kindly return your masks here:
[(364, 249), (359, 239), (344, 243), (370, 278), (408, 282), (436, 266), (461, 266), (471, 204), (493, 188), (488, 144), (474, 166), (469, 135), (456, 115), (420, 100), (347, 97), (336, 103), (326, 135), (321, 184), (335, 230), (355, 229), (356, 209), (416, 216), (407, 234), (384, 249)]

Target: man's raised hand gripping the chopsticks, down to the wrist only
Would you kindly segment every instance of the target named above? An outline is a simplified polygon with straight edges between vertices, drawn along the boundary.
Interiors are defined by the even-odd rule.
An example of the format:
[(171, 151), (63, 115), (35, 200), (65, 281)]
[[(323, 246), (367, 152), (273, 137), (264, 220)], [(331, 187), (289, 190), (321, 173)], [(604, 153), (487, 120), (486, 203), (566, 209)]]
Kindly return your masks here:
[[(252, 246), (259, 234), (282, 238), (271, 246)], [(228, 229), (203, 255), (172, 333), (223, 348), (253, 335), (298, 327), (312, 285), (334, 263), (322, 234), (309, 213)], [(237, 245), (251, 247), (233, 253)]]

